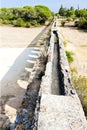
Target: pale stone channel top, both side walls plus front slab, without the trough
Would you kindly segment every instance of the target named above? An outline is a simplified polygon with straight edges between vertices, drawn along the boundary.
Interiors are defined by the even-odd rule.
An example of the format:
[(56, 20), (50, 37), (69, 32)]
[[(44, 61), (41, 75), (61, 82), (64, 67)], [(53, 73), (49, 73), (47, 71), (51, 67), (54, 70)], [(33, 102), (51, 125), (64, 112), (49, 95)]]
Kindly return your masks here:
[[(64, 91), (63, 95), (53, 95), (51, 90), (55, 44), (53, 32), (56, 32), (57, 44), (59, 44), (59, 73)], [(87, 130), (87, 120), (78, 95), (72, 86), (69, 65), (56, 27), (56, 21), (54, 21), (51, 28), (48, 62), (41, 82), (40, 96), (38, 130)]]

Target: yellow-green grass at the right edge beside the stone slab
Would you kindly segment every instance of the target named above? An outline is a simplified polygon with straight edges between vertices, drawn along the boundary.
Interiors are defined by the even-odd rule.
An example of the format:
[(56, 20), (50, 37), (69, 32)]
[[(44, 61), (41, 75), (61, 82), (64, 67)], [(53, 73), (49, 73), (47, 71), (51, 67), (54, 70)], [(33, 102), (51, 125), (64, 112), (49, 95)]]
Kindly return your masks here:
[(81, 75), (78, 76), (78, 72), (75, 68), (71, 69), (71, 77), (73, 86), (78, 93), (85, 115), (87, 117), (87, 77)]

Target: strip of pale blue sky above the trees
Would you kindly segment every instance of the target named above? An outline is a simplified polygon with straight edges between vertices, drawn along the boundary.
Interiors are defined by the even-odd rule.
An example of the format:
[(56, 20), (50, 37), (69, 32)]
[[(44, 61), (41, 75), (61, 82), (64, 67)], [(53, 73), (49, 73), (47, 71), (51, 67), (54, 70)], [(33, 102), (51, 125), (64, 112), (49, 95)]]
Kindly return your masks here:
[(35, 6), (35, 5), (46, 5), (53, 12), (58, 12), (61, 4), (64, 7), (74, 8), (87, 8), (87, 0), (1, 0), (0, 8), (2, 7), (23, 7), (26, 5)]

